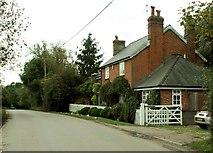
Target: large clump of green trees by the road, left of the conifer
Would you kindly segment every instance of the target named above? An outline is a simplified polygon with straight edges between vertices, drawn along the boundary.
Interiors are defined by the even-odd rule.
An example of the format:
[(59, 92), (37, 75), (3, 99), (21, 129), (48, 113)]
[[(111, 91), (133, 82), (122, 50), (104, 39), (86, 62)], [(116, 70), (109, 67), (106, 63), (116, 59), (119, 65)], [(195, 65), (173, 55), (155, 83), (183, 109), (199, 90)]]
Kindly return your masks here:
[[(31, 48), (34, 58), (25, 64), (21, 79), (25, 85), (31, 107), (44, 111), (68, 111), (79, 95), (82, 83), (68, 51), (59, 44), (36, 44)], [(24, 96), (24, 95), (23, 95)]]

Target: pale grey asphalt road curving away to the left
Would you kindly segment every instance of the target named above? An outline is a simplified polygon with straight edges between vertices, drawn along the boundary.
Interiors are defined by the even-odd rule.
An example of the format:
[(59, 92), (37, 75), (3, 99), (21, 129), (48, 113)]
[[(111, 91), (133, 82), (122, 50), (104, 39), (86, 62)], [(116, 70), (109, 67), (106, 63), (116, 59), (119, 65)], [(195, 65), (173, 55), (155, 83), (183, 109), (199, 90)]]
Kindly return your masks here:
[[(70, 116), (10, 110), (2, 128), (5, 151), (168, 151), (151, 140)], [(1, 132), (0, 132), (1, 133)]]

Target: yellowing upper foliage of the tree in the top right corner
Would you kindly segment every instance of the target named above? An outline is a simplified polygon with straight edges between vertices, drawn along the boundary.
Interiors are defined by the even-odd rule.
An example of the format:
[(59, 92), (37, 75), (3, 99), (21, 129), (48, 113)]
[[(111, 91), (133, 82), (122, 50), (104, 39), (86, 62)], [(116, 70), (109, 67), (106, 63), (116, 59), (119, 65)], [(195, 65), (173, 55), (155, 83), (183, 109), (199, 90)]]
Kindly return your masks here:
[(182, 9), (180, 24), (196, 34), (197, 50), (212, 64), (213, 46), (213, 7), (212, 2), (194, 1), (187, 8)]

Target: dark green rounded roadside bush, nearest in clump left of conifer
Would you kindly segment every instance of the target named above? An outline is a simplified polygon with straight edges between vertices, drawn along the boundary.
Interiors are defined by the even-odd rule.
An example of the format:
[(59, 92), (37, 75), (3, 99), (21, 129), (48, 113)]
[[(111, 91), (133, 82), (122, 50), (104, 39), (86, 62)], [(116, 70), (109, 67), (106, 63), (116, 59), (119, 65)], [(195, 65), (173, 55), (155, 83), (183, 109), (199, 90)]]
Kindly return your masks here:
[(80, 77), (73, 69), (66, 68), (60, 74), (42, 80), (43, 107), (45, 111), (69, 111), (69, 104), (79, 95), (76, 87)]

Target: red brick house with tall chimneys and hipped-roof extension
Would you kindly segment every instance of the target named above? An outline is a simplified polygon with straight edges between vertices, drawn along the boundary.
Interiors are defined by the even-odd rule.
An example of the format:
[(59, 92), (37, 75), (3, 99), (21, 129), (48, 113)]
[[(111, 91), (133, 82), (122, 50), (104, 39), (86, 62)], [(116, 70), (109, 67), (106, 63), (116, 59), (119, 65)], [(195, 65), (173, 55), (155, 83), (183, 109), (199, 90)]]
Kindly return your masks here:
[(203, 106), (203, 88), (197, 81), (206, 59), (195, 50), (194, 34), (181, 36), (171, 25), (164, 27), (160, 11), (151, 7), (148, 35), (128, 46), (115, 37), (113, 57), (101, 66), (105, 84), (124, 76), (141, 93), (142, 102), (150, 90), (160, 90), (161, 104), (182, 105), (196, 111)]

